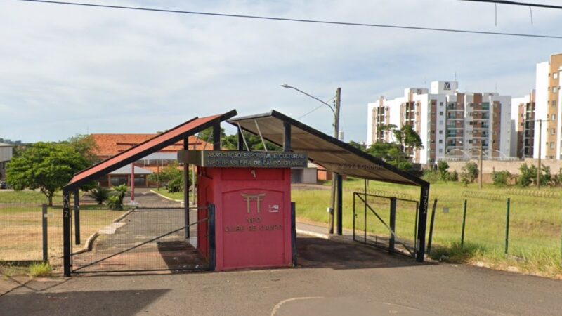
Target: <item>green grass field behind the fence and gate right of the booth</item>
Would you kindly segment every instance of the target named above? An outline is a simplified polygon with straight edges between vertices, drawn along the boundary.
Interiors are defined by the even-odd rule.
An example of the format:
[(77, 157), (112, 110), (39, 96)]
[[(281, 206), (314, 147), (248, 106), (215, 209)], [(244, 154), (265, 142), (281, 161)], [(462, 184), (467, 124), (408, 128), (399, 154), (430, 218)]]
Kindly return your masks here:
[[(327, 183), (325, 185), (330, 185)], [(344, 228), (353, 228), (353, 194), (364, 190), (363, 180), (344, 181)], [(473, 263), (484, 261), (495, 267), (515, 265), (524, 272), (536, 272), (542, 275), (562, 276), (562, 206), (560, 199), (527, 196), (536, 192), (525, 189), (518, 195), (507, 195), (509, 188), (497, 188), (484, 185), (478, 189), (477, 184), (463, 187), (460, 183), (435, 183), (430, 189), (428, 228), (431, 219), (433, 200), (438, 199), (436, 219), (433, 230), (434, 258), (446, 256), (448, 261)], [(549, 192), (562, 192), (560, 188), (544, 189)], [(478, 194), (492, 193), (503, 195), (499, 201), (490, 201), (475, 197), (467, 198), (466, 228), (464, 247), (460, 247), (464, 191), (476, 191)], [(386, 195), (396, 192), (414, 200), (419, 199), (419, 187), (394, 185), (370, 181), (367, 193)], [(326, 212), (329, 206), (329, 190), (293, 190), (292, 201), (296, 202), (296, 214), (299, 218), (328, 223)], [(530, 195), (530, 194), (529, 194)], [(504, 254), (507, 197), (511, 198), (509, 220), (509, 255)], [(369, 197), (368, 202), (374, 211), (388, 223), (389, 202), (386, 198)], [(365, 228), (364, 206), (359, 199), (357, 204), (355, 227)], [(443, 208), (448, 212), (444, 213)], [(413, 242), (416, 206), (412, 202), (397, 203), (396, 235), (400, 240)], [(388, 237), (388, 230), (367, 209), (367, 232)]]

